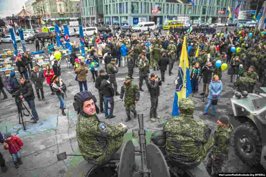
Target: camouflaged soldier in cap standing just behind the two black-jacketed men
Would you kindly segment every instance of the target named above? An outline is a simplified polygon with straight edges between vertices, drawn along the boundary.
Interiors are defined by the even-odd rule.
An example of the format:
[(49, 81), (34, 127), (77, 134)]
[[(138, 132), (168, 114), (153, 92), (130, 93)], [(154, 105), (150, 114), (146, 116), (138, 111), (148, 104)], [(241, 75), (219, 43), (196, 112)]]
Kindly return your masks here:
[(117, 92), (117, 82), (115, 78), (116, 73), (118, 73), (116, 58), (112, 58), (112, 61), (109, 64), (107, 64), (107, 74), (110, 77), (109, 78), (110, 83), (113, 84), (114, 86), (115, 95), (118, 96), (120, 94)]

